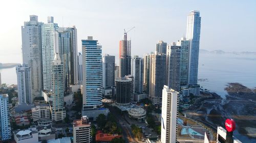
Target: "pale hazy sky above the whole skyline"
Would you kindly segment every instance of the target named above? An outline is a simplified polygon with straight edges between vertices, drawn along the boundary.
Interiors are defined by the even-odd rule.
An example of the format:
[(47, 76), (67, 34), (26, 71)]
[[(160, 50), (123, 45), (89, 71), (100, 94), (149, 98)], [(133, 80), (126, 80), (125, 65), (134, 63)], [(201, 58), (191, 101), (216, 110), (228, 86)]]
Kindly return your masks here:
[(256, 51), (256, 1), (5, 1), (1, 2), (0, 63), (21, 63), (21, 27), (29, 15), (47, 22), (54, 16), (59, 26), (77, 28), (81, 39), (93, 36), (103, 54), (118, 58), (123, 28), (128, 33), (132, 55), (155, 50), (158, 40), (175, 42), (186, 35), (187, 14), (200, 11), (200, 48), (224, 51)]

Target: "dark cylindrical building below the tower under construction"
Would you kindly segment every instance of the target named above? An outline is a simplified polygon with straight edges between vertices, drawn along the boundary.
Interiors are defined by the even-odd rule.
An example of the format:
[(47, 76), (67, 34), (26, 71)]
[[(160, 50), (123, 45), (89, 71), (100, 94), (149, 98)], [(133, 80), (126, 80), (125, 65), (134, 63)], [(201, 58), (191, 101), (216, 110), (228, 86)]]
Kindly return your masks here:
[(116, 79), (116, 103), (119, 105), (127, 105), (131, 103), (131, 88), (133, 86), (133, 79), (131, 78), (117, 78)]

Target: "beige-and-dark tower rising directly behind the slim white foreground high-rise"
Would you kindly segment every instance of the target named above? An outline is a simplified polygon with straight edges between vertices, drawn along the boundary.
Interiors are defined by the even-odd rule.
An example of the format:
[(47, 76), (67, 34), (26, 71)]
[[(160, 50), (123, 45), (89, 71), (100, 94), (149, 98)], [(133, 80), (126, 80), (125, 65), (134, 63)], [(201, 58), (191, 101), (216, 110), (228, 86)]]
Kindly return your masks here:
[(149, 99), (154, 105), (161, 105), (162, 88), (166, 78), (166, 55), (154, 53), (150, 55)]

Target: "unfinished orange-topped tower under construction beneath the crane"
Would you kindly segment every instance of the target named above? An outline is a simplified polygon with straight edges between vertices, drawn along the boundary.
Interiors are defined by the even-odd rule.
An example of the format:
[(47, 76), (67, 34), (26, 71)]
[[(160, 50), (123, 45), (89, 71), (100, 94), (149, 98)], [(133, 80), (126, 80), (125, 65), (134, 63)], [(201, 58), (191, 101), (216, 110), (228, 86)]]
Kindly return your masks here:
[(127, 40), (127, 33), (119, 41), (119, 77), (131, 74), (131, 40)]

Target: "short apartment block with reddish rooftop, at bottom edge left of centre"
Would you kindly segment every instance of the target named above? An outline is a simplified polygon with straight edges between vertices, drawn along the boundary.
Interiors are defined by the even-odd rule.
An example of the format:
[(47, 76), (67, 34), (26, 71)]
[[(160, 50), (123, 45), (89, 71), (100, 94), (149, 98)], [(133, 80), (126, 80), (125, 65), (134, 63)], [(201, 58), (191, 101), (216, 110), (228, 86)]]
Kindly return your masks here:
[(91, 123), (86, 116), (73, 122), (73, 141), (76, 143), (91, 142)]

